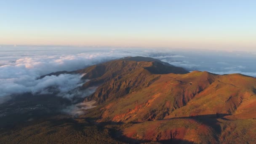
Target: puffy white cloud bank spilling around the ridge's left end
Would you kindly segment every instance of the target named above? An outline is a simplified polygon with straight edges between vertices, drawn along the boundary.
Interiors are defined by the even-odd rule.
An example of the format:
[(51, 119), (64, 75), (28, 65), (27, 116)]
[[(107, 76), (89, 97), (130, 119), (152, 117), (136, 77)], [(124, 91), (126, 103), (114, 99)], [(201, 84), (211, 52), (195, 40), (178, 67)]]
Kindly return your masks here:
[[(8, 100), (11, 95), (20, 93), (46, 94), (57, 93), (72, 100), (73, 97), (85, 97), (87, 93), (93, 93), (96, 88), (88, 88), (79, 91), (78, 86), (85, 83), (81, 75), (63, 74), (59, 76), (46, 76), (57, 71), (73, 71), (83, 69), (93, 64), (118, 59), (124, 56), (139, 56), (140, 51), (129, 53), (127, 50), (87, 50), (86, 53), (51, 55), (54, 50), (36, 53), (35, 50), (28, 53), (29, 56), (21, 56), (21, 53), (13, 52), (13, 57), (7, 51), (0, 58), (0, 103)], [(61, 51), (59, 51), (61, 52)], [(16, 55), (15, 55), (16, 54)], [(8, 99), (7, 99), (8, 98)]]

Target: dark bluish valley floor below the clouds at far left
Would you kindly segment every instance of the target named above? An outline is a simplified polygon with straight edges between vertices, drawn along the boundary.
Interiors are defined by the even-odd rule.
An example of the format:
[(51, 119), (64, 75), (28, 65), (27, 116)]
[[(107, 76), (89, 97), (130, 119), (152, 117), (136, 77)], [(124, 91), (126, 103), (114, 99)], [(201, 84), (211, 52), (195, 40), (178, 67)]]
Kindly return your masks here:
[(54, 94), (34, 96), (32, 93), (24, 93), (12, 96), (10, 101), (0, 104), (0, 128), (8, 129), (59, 114), (61, 109), (70, 104), (68, 99)]

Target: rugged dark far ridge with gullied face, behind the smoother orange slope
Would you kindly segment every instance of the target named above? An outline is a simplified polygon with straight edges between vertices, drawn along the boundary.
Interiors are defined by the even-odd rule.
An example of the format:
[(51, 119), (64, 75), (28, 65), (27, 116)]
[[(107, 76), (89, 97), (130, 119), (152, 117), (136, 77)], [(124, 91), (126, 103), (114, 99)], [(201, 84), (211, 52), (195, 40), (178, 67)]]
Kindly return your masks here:
[(111, 101), (136, 89), (146, 88), (164, 73), (188, 73), (180, 67), (167, 66), (157, 61), (114, 60), (76, 71), (86, 73), (90, 79), (81, 89), (100, 85), (96, 92), (86, 98), (98, 104)]

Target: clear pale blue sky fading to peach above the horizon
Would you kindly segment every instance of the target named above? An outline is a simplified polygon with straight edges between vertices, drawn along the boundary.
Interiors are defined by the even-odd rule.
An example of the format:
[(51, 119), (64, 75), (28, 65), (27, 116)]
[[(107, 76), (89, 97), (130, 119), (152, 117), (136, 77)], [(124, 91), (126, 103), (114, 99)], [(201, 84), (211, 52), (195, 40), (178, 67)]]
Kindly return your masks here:
[(256, 50), (255, 0), (0, 0), (0, 45)]

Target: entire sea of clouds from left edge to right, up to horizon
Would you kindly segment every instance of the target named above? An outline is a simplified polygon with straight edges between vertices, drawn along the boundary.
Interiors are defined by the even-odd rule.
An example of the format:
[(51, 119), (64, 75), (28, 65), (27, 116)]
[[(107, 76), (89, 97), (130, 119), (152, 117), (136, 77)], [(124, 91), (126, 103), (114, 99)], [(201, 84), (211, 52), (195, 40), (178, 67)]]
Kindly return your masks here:
[[(150, 56), (189, 71), (216, 74), (242, 73), (256, 77), (256, 55), (250, 52), (185, 51), (140, 48), (0, 47), (0, 103), (20, 93), (53, 93), (72, 99), (83, 93), (75, 88), (85, 83), (82, 75), (40, 76), (73, 71), (125, 56)], [(93, 93), (96, 88), (88, 90)], [(69, 93), (70, 91), (76, 91)], [(83, 95), (82, 97), (84, 97)]]

